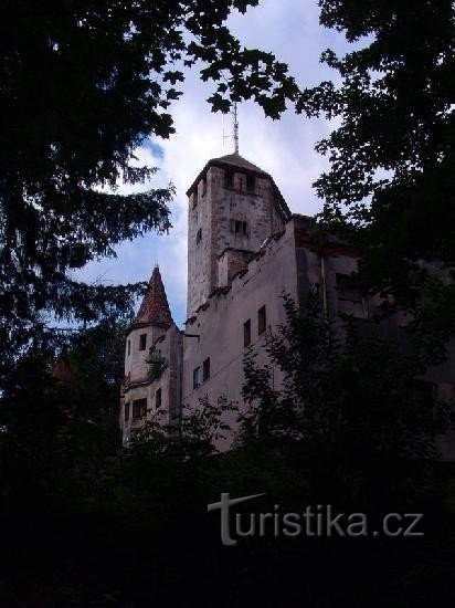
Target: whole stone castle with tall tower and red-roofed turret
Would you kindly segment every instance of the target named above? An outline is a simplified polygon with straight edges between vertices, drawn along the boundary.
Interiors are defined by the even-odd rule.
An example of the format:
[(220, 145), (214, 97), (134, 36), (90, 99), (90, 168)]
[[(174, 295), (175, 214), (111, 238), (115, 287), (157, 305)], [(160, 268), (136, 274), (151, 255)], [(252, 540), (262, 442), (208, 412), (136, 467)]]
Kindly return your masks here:
[[(358, 256), (335, 237), (315, 247), (310, 218), (289, 211), (273, 178), (237, 153), (209, 160), (188, 192), (186, 329), (172, 321), (158, 266), (126, 336), (120, 427), (124, 443), (161, 409), (167, 421), (205, 396), (242, 403), (243, 356), (265, 357), (268, 329), (285, 322), (283, 293), (304, 304), (318, 286), (326, 315), (364, 323), (377, 301), (346, 287)], [(395, 335), (405, 319), (385, 321)], [(277, 370), (276, 381), (279, 382)], [(453, 366), (425, 381), (454, 396)], [(235, 420), (229, 420), (235, 429)], [(220, 441), (229, 448), (232, 438)], [(455, 454), (454, 454), (455, 455)]]

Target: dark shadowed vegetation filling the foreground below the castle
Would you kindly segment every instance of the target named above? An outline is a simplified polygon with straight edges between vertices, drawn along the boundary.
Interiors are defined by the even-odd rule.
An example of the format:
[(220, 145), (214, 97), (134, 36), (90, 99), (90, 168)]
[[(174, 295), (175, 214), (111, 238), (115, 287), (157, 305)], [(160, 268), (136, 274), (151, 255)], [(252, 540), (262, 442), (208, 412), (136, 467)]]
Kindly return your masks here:
[[(288, 324), (268, 340), (286, 388), (273, 390), (267, 368), (247, 354), (251, 407), (236, 449), (224, 454), (213, 442), (235, 405), (223, 399), (184, 411), (180, 433), (155, 417), (119, 447), (109, 405), (123, 371), (121, 327), (74, 342), (70, 381), (50, 377), (50, 360), (21, 364), (0, 408), (4, 605), (204, 605), (220, 587), (221, 606), (453, 599), (441, 573), (453, 560), (455, 470), (428, 459), (444, 408), (413, 398), (415, 361), (393, 346), (353, 333), (337, 350), (316, 301), (306, 315), (288, 298), (286, 308)], [(254, 537), (228, 548), (219, 515), (207, 513), (226, 491), (265, 493), (260, 506), (272, 513), (275, 504), (289, 513), (330, 504), (371, 522), (424, 513), (425, 536)]]

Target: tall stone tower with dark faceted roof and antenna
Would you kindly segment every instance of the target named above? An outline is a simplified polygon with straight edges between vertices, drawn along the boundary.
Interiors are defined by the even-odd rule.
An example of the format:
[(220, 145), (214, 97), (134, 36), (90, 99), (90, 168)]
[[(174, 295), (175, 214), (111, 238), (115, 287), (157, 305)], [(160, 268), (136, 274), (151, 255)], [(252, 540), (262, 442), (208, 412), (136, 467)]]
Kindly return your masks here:
[(191, 317), (290, 217), (272, 177), (230, 154), (209, 160), (187, 192), (188, 303)]

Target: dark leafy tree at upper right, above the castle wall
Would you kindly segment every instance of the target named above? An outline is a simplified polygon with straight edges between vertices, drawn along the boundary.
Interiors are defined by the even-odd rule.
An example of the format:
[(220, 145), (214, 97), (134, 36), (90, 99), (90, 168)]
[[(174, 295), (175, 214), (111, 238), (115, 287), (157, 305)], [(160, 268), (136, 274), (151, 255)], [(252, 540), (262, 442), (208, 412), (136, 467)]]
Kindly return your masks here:
[(341, 57), (322, 54), (341, 84), (321, 83), (298, 103), (340, 122), (317, 146), (330, 163), (315, 184), (321, 219), (361, 253), (363, 285), (415, 308), (422, 323), (428, 315), (415, 294), (434, 282), (421, 261), (433, 264), (445, 289), (426, 333), (438, 319), (447, 336), (455, 331), (447, 286), (455, 265), (454, 3), (321, 0), (320, 7), (321, 24), (356, 44)]

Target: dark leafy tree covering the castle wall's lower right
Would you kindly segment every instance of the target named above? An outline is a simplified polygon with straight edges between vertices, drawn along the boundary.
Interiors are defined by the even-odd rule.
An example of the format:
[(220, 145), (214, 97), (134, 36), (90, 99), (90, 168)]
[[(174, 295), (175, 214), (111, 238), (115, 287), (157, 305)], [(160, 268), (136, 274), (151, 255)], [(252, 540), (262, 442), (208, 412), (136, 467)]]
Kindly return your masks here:
[[(447, 405), (416, 384), (420, 356), (382, 339), (374, 325), (369, 335), (348, 318), (340, 332), (315, 294), (305, 313), (289, 296), (284, 306), (286, 324), (267, 338), (269, 363), (258, 366), (253, 349), (245, 356), (244, 440), (294, 445), (318, 473), (361, 473), (368, 484), (379, 484), (378, 464), (435, 455)], [(278, 387), (274, 367), (283, 374)]]

